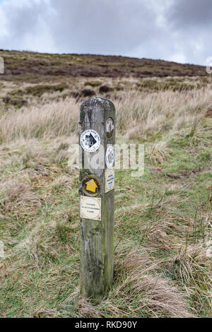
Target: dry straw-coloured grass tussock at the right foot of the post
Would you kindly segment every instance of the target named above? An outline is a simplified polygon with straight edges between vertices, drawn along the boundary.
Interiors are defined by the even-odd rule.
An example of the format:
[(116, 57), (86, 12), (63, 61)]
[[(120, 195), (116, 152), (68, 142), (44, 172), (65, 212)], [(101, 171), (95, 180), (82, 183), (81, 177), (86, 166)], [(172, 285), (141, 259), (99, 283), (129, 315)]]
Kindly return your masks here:
[[(143, 249), (132, 250), (126, 254), (125, 245), (119, 247), (118, 251), (114, 281), (116, 286), (106, 301), (94, 306), (88, 300), (78, 297), (78, 292), (75, 292), (76, 312), (81, 317), (138, 317), (141, 312), (145, 312), (148, 317), (195, 316), (187, 311), (186, 295), (183, 295), (174, 283), (163, 278), (163, 275), (155, 273), (160, 261), (153, 259), (153, 256)], [(122, 300), (116, 301), (120, 294)], [(70, 298), (66, 300), (69, 301)]]

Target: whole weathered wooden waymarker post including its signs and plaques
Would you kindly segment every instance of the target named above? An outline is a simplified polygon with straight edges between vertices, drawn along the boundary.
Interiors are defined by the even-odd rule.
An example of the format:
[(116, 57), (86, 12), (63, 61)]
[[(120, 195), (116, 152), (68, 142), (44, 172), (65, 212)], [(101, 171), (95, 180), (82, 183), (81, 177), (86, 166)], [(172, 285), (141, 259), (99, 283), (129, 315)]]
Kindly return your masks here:
[(79, 114), (80, 293), (100, 301), (113, 278), (115, 108), (93, 97)]

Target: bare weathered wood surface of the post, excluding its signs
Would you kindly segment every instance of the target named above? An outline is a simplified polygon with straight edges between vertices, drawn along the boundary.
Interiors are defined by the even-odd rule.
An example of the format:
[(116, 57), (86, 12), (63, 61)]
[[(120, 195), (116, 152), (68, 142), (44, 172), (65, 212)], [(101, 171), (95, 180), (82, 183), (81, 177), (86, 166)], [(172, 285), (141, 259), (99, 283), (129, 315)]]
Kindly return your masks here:
[[(113, 278), (114, 190), (105, 194), (105, 161), (104, 165), (99, 165), (98, 168), (93, 165), (89, 165), (88, 169), (85, 168), (86, 151), (81, 148), (80, 138), (87, 129), (97, 131), (106, 153), (107, 144), (115, 143), (115, 131), (111, 138), (107, 138), (105, 132), (106, 121), (110, 117), (115, 122), (115, 108), (109, 100), (93, 97), (81, 105), (79, 195), (86, 196), (81, 186), (84, 177), (90, 174), (98, 177), (101, 190), (97, 197), (102, 198), (102, 220), (81, 218), (80, 293), (98, 302), (107, 294)], [(99, 150), (90, 153), (90, 157), (95, 158), (98, 153)]]

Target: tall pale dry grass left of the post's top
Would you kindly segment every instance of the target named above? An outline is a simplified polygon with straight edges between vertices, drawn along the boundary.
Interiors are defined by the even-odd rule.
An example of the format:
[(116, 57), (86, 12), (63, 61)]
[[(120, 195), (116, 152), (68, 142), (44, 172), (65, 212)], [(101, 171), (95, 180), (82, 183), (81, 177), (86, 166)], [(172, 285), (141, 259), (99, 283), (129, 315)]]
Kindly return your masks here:
[(78, 104), (73, 98), (52, 102), (40, 109), (24, 107), (20, 112), (8, 111), (1, 117), (1, 143), (17, 138), (54, 138), (76, 133)]

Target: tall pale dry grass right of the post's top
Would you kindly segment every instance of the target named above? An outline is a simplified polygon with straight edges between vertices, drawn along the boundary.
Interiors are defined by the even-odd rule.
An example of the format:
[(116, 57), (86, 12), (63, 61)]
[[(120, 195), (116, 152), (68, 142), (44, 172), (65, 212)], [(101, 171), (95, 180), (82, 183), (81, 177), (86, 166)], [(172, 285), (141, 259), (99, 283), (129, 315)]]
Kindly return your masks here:
[(130, 138), (177, 131), (204, 117), (212, 103), (211, 86), (190, 92), (129, 93), (115, 102), (119, 132)]

